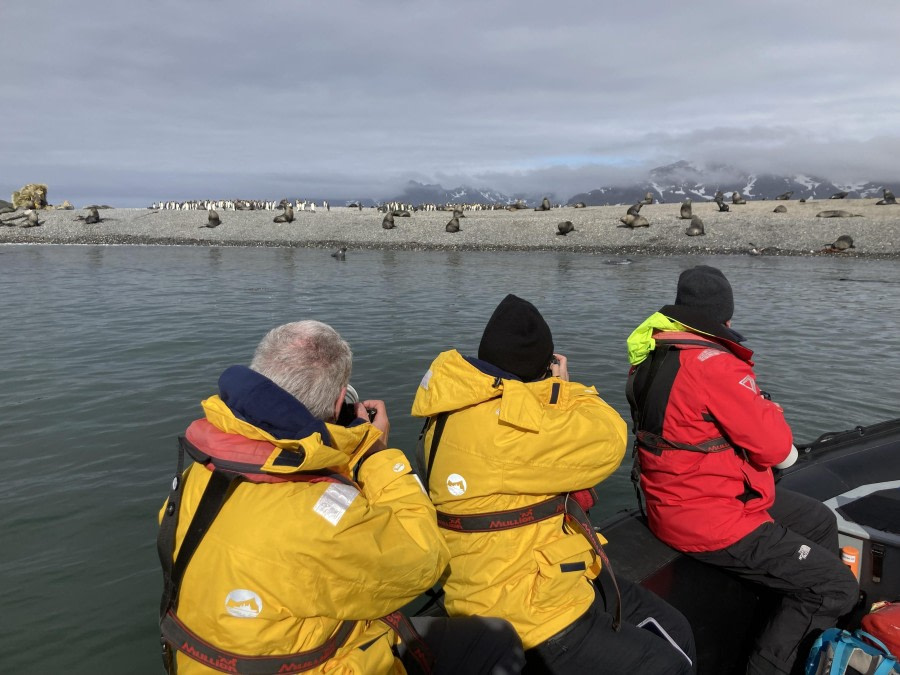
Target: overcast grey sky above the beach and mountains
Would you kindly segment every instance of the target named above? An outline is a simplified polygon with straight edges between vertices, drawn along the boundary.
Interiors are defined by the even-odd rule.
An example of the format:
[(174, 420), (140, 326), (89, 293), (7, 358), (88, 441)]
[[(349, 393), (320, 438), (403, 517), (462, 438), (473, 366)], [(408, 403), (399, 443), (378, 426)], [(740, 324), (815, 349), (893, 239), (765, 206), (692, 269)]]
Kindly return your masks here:
[(2, 0), (0, 25), (2, 198), (900, 178), (896, 0)]

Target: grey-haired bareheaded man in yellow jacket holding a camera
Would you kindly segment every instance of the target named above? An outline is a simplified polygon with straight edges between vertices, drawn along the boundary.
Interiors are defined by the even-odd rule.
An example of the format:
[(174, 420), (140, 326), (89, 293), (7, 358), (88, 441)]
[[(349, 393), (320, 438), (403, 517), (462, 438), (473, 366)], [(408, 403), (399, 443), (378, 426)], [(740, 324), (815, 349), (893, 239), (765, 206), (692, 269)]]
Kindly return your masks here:
[(519, 672), (506, 622), (413, 628), (397, 612), (449, 554), (410, 462), (387, 446), (384, 403), (344, 403), (351, 360), (326, 324), (275, 328), (180, 439), (158, 542), (170, 672)]

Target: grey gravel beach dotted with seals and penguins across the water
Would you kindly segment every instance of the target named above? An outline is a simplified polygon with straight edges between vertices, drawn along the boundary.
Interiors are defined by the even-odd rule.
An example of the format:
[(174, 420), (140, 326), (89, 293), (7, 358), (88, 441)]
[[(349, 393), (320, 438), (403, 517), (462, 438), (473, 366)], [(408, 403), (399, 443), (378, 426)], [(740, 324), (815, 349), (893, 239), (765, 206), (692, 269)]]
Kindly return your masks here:
[[(626, 206), (554, 208), (550, 211), (466, 211), (460, 231), (444, 226), (449, 211), (417, 211), (396, 217), (396, 228), (381, 227), (384, 216), (374, 208), (332, 207), (315, 213), (295, 211), (293, 223), (274, 223), (281, 211), (219, 211), (222, 224), (203, 227), (206, 211), (104, 209), (102, 222), (86, 225), (76, 217), (82, 209), (40, 212), (42, 225), (23, 228), (19, 214), (0, 215), (0, 243), (164, 244), (200, 246), (292, 246), (409, 250), (559, 250), (603, 254), (747, 254), (843, 255), (900, 257), (900, 205), (877, 206), (875, 199), (751, 201), (720, 213), (715, 203), (695, 203), (694, 215), (704, 223), (704, 236), (689, 237), (690, 221), (679, 218), (679, 204), (644, 206), (649, 227), (621, 227)], [(774, 213), (783, 205), (787, 213)], [(861, 217), (817, 218), (839, 209)], [(571, 221), (575, 231), (556, 234), (557, 224)], [(823, 253), (841, 235), (855, 248)]]

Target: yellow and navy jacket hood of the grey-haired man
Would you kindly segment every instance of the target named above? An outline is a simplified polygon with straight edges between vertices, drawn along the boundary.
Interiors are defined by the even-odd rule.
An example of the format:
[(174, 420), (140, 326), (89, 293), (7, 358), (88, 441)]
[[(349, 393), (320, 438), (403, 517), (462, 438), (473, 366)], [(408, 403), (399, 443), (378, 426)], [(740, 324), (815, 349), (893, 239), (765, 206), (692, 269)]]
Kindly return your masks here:
[[(219, 395), (201, 403), (206, 420), (227, 434), (274, 446), (267, 473), (297, 473), (346, 467), (381, 436), (363, 420), (342, 427), (314, 417), (281, 387), (245, 366), (219, 378)], [(300, 456), (286, 462), (281, 450)]]

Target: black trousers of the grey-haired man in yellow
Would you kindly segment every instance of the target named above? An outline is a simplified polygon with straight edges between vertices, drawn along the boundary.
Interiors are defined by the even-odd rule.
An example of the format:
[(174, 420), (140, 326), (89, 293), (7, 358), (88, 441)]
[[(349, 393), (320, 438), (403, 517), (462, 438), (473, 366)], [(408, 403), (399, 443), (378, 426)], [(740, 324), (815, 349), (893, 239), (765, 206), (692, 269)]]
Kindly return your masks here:
[[(517, 675), (525, 665), (522, 641), (503, 619), (417, 616), (410, 622), (434, 653), (433, 675)], [(411, 669), (405, 645), (398, 653)]]

